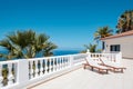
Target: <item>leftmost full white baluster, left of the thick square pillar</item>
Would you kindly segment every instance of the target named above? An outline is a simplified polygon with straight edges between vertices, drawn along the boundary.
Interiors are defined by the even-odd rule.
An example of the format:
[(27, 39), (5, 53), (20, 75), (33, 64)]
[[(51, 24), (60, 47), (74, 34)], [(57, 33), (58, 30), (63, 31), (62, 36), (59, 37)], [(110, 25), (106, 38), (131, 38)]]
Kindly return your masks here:
[(12, 63), (9, 63), (8, 65), (8, 71), (9, 71), (9, 76), (8, 76), (8, 86), (10, 86), (10, 85), (12, 85), (13, 83), (13, 79), (14, 79), (14, 77), (13, 77), (13, 75), (12, 75)]

